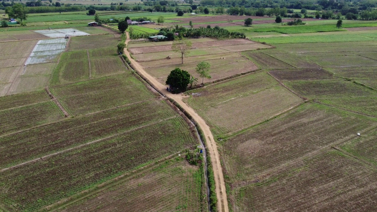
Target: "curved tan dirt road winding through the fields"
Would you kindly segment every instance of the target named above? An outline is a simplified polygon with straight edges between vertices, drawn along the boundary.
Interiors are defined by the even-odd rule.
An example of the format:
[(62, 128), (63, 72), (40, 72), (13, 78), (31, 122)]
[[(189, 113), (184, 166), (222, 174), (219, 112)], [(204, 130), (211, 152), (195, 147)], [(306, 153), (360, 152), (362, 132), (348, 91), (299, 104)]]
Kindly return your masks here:
[[(128, 41), (130, 40), (128, 32), (126, 32), (127, 39), (126, 39), (126, 45), (128, 44)], [(172, 98), (175, 100), (187, 113), (189, 113), (192, 118), (198, 123), (200, 128), (202, 129), (205, 138), (207, 139), (207, 150), (210, 153), (211, 156), (211, 163), (213, 166), (213, 173), (215, 175), (215, 186), (216, 186), (216, 196), (217, 196), (217, 208), (219, 212), (228, 212), (228, 200), (227, 200), (227, 193), (225, 191), (225, 181), (224, 176), (222, 174), (222, 168), (220, 163), (220, 156), (219, 152), (217, 150), (217, 145), (215, 142), (215, 139), (213, 139), (213, 135), (210, 131), (209, 126), (207, 123), (205, 123), (204, 119), (200, 117), (190, 106), (188, 106), (186, 103), (182, 101), (183, 96), (181, 94), (172, 94), (168, 91), (166, 91), (166, 86), (161, 84), (159, 81), (157, 81), (156, 78), (149, 75), (139, 63), (137, 63), (135, 60), (133, 60), (130, 57), (130, 53), (127, 51), (127, 48), (124, 49), (124, 54), (127, 55), (127, 57), (130, 59), (132, 67), (135, 69), (138, 74), (143, 75), (143, 77), (147, 78), (150, 83), (153, 84), (155, 89), (158, 89), (159, 92), (166, 95), (167, 97)]]

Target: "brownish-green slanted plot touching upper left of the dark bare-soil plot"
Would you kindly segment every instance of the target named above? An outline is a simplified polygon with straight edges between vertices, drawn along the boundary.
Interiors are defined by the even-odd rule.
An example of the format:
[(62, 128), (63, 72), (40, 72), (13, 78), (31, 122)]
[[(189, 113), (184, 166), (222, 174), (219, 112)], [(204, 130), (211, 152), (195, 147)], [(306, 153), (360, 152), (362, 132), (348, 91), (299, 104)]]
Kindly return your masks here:
[(247, 51), (241, 54), (249, 58), (262, 69), (284, 69), (293, 67), (260, 51)]

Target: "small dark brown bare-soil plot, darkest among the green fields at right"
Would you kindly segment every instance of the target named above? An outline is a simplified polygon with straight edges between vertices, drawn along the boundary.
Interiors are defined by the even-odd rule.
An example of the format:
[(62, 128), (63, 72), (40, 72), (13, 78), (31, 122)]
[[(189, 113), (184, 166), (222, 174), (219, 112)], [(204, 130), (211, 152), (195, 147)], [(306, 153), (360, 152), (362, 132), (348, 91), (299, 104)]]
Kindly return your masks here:
[(333, 74), (321, 68), (279, 69), (270, 71), (279, 80), (329, 80)]

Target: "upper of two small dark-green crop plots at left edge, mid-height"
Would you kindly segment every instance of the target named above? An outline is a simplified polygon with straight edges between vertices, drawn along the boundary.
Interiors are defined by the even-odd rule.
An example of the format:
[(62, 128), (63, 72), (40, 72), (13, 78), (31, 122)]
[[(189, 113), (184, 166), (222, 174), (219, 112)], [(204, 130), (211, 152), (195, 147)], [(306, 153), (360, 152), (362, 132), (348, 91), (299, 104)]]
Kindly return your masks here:
[(50, 100), (46, 91), (34, 91), (0, 98), (0, 111)]

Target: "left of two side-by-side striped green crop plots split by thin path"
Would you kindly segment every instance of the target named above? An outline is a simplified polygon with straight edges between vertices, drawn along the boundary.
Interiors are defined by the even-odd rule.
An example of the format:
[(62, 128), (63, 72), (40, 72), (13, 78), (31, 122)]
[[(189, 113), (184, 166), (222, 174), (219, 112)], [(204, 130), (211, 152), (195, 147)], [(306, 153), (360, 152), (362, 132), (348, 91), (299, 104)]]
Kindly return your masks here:
[(89, 78), (89, 61), (66, 61), (60, 66), (61, 77), (65, 81), (76, 81)]

